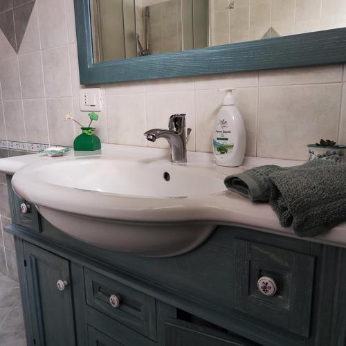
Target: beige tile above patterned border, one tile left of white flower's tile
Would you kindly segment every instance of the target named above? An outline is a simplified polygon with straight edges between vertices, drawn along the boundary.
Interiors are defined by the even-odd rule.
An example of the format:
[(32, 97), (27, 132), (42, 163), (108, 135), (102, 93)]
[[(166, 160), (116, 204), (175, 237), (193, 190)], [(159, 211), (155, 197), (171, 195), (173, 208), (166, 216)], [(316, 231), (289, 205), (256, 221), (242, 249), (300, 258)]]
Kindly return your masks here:
[(46, 100), (24, 100), (26, 140), (31, 143), (48, 143)]

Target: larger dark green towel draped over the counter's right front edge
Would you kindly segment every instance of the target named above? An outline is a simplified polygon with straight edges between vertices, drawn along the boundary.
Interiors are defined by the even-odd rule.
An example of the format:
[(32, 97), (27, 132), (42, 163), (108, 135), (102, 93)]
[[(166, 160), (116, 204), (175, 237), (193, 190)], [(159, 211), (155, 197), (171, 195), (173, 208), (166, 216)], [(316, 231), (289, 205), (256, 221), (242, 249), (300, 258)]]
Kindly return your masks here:
[(268, 179), (269, 204), (280, 224), (293, 226), (300, 237), (314, 237), (346, 221), (346, 165), (293, 168)]

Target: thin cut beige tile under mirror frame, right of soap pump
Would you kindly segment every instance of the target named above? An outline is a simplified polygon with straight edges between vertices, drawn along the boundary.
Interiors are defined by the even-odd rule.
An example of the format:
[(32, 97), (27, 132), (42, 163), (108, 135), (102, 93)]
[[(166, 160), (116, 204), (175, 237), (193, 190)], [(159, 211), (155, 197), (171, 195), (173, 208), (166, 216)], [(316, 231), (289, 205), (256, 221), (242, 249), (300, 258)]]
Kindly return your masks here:
[(343, 65), (295, 67), (260, 71), (260, 86), (340, 82)]

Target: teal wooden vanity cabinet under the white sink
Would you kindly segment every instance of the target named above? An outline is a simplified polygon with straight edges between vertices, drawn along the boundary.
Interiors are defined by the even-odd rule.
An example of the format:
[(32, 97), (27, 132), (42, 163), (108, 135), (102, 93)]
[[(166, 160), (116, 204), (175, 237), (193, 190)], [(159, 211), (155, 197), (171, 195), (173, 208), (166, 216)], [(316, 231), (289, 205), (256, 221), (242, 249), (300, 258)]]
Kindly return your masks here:
[(345, 346), (343, 248), (219, 226), (185, 255), (116, 253), (57, 230), (8, 183), (28, 345)]

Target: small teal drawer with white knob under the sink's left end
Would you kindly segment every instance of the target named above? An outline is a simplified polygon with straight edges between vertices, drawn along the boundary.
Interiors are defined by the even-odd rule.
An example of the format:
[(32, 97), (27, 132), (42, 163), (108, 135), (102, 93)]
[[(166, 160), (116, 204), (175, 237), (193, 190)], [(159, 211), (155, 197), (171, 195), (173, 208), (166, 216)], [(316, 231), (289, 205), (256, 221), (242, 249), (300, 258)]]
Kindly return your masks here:
[(33, 230), (39, 233), (40, 230), (40, 222), (39, 222), (39, 212), (37, 212), (36, 207), (25, 201), (21, 197), (17, 196), (15, 192), (13, 192), (11, 185), (9, 186), (10, 199), (12, 201), (12, 222), (15, 225), (28, 228), (29, 230)]

